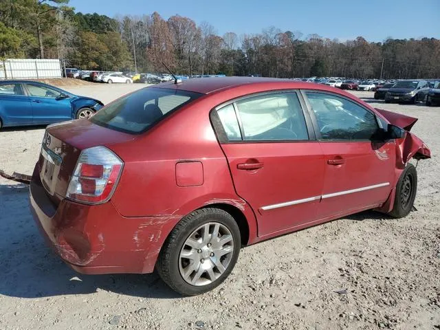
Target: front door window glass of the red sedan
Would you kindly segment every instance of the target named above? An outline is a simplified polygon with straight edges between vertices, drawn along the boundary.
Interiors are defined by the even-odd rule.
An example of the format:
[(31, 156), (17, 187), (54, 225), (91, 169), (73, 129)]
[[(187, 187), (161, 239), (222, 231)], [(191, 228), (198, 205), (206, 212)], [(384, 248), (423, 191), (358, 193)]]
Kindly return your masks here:
[(378, 125), (373, 113), (335, 95), (306, 92), (322, 140), (370, 140)]

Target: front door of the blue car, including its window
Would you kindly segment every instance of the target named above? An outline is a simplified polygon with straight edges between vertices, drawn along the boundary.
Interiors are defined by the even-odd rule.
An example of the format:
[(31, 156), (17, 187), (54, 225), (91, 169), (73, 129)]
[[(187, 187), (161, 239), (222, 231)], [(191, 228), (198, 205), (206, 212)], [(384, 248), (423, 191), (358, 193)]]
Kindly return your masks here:
[(41, 84), (26, 83), (34, 124), (52, 124), (72, 119), (70, 98), (57, 98), (61, 91)]

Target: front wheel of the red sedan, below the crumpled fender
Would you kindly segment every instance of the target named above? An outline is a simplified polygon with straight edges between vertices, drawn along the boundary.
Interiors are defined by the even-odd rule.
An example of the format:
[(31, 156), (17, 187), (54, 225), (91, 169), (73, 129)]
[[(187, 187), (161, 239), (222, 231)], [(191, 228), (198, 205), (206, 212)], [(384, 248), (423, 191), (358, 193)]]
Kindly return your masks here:
[(417, 193), (417, 170), (412, 164), (407, 164), (397, 181), (392, 217), (403, 218), (408, 215), (414, 205)]

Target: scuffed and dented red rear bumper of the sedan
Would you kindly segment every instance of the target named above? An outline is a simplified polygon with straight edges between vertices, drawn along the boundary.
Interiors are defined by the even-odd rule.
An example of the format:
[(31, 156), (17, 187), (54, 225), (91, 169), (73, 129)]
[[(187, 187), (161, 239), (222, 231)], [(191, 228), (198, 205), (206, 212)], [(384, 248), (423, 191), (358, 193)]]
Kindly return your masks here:
[(178, 219), (122, 217), (111, 202), (87, 206), (63, 199), (55, 206), (39, 179), (30, 184), (30, 209), (45, 241), (83, 274), (153, 272), (162, 243)]

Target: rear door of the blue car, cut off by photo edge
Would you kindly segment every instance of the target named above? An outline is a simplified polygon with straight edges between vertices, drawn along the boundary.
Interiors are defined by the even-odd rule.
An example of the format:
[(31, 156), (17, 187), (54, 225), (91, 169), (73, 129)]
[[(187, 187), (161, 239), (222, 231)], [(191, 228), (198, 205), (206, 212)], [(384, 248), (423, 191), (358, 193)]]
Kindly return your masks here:
[(32, 106), (20, 83), (0, 85), (0, 118), (4, 126), (32, 125)]

